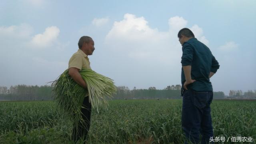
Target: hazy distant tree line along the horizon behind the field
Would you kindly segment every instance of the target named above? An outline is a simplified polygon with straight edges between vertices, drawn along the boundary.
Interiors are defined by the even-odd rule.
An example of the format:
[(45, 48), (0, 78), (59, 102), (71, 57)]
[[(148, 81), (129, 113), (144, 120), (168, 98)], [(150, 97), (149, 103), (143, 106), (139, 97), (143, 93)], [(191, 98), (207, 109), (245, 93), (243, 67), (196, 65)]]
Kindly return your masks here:
[[(118, 86), (117, 93), (113, 99), (180, 99), (182, 98), (181, 85), (167, 86), (163, 90), (157, 90), (152, 86), (148, 89), (137, 89), (134, 87), (130, 90), (127, 86)], [(9, 89), (6, 86), (0, 86), (0, 100), (53, 100), (52, 87), (45, 86), (27, 86), (16, 85)], [(256, 90), (230, 90), (229, 96), (225, 96), (224, 92), (214, 92), (214, 99), (222, 98), (256, 98)]]

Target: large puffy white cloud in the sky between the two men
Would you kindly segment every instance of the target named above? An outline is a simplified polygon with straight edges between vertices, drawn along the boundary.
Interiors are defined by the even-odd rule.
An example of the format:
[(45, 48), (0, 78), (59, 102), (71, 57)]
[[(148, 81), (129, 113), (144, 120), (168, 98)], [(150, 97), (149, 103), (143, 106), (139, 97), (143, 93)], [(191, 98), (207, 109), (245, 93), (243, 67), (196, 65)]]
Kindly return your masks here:
[[(150, 28), (144, 17), (125, 14), (123, 20), (114, 22), (106, 43), (115, 45), (112, 46), (115, 51), (124, 52), (131, 58), (156, 58), (156, 52), (161, 54), (168, 49), (168, 38), (168, 32)], [(161, 58), (164, 57), (158, 57)]]

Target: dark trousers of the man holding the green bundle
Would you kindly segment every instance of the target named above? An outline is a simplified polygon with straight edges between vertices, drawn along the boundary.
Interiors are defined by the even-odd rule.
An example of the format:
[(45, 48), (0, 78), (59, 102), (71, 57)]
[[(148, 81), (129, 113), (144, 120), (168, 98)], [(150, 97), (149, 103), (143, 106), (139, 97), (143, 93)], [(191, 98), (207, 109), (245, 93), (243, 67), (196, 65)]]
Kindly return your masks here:
[(73, 140), (75, 142), (79, 139), (86, 140), (86, 136), (90, 129), (92, 105), (89, 103), (89, 96), (84, 98), (83, 106), (84, 108), (81, 108), (83, 122), (78, 124), (78, 129), (75, 126), (73, 129)]

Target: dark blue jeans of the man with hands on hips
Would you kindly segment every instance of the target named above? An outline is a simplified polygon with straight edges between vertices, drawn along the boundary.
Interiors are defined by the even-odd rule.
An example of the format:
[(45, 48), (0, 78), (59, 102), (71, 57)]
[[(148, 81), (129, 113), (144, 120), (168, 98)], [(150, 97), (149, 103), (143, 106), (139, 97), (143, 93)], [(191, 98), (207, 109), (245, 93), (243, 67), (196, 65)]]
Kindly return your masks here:
[(208, 144), (210, 137), (213, 137), (210, 108), (212, 96), (212, 92), (186, 90), (183, 93), (182, 130), (187, 138), (185, 144), (190, 142), (198, 144), (200, 134), (201, 144)]

